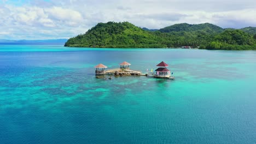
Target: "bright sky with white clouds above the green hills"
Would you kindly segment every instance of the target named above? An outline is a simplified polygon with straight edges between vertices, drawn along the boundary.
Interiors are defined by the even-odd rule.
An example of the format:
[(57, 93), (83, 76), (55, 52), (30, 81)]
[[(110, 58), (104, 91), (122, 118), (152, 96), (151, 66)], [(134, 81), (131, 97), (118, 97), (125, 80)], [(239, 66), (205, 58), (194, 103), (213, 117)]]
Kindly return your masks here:
[(68, 39), (98, 22), (159, 29), (176, 23), (256, 27), (255, 0), (0, 0), (0, 39)]

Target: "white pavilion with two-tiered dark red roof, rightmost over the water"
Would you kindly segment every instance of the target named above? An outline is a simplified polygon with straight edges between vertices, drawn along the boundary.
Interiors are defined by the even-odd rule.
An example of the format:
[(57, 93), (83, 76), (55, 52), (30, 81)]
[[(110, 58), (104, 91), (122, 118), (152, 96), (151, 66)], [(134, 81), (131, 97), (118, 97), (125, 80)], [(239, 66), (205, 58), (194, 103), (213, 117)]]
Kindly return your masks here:
[(171, 72), (168, 70), (166, 67), (168, 67), (168, 64), (165, 62), (161, 62), (156, 67), (159, 67), (158, 69), (155, 70), (155, 77), (170, 77)]

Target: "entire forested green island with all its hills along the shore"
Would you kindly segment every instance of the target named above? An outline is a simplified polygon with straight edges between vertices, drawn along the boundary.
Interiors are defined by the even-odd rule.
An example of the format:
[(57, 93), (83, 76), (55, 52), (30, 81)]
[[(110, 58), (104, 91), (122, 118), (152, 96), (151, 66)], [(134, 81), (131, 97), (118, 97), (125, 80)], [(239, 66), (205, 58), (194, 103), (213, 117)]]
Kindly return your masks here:
[(192, 46), (209, 50), (256, 50), (256, 27), (221, 28), (211, 23), (180, 23), (161, 29), (129, 22), (98, 23), (85, 34), (70, 38), (69, 47), (166, 48)]

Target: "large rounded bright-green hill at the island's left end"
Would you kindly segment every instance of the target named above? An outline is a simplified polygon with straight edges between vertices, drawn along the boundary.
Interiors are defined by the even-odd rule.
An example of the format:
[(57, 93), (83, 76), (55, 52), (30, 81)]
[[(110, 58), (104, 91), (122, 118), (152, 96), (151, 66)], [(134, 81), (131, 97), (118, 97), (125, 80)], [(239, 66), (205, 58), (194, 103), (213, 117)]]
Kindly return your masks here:
[(156, 35), (129, 22), (98, 23), (85, 34), (67, 41), (71, 47), (166, 47)]

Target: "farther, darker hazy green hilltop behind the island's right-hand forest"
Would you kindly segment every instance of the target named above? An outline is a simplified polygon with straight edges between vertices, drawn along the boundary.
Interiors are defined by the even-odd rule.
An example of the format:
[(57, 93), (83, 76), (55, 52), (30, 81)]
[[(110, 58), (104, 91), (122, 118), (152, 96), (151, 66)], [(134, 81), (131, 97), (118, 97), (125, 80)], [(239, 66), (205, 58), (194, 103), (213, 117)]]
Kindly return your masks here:
[(168, 26), (165, 28), (161, 28), (159, 30), (163, 33), (169, 33), (169, 32), (195, 32), (195, 31), (203, 31), (206, 33), (221, 33), (224, 31), (223, 28), (212, 25), (211, 23), (202, 23), (198, 25), (190, 25), (188, 23), (180, 23), (175, 24), (172, 26)]

